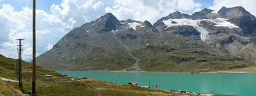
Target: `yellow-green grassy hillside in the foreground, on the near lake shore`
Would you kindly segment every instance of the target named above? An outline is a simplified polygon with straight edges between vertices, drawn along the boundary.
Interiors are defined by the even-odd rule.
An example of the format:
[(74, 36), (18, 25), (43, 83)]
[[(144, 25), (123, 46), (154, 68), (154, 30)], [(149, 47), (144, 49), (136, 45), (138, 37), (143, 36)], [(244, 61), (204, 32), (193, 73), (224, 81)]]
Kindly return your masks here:
[[(15, 79), (15, 60), (5, 58), (0, 55), (0, 77)], [(22, 95), (23, 93), (31, 94), (31, 81), (27, 78), (27, 73), (31, 72), (31, 64), (22, 61), (22, 80), (23, 88), (19, 88), (19, 83), (13, 83), (0, 80), (0, 95)], [(44, 79), (45, 74), (52, 75), (53, 79), (67, 79), (67, 77), (58, 74), (53, 70), (36, 67), (36, 78)], [(100, 81), (99, 79), (80, 79), (83, 83), (95, 84), (93, 88), (87, 88), (79, 84), (71, 83), (51, 83), (36, 82), (37, 95), (157, 95), (157, 90), (151, 88), (143, 88), (134, 85), (124, 85), (109, 83), (108, 81)], [(96, 86), (97, 85), (97, 86)], [(165, 90), (158, 90), (158, 95), (191, 95), (186, 93), (172, 93)]]

